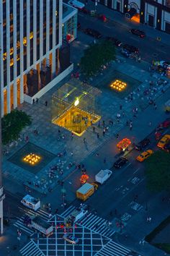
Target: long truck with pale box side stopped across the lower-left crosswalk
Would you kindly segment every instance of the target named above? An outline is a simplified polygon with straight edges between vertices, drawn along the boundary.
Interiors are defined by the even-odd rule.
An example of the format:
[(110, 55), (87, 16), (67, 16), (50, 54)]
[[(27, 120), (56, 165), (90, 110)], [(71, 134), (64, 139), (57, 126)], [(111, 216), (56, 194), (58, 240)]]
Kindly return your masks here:
[(39, 216), (25, 216), (24, 224), (29, 226), (31, 229), (35, 231), (40, 231), (42, 236), (50, 236), (53, 234), (53, 226), (50, 222), (43, 220)]

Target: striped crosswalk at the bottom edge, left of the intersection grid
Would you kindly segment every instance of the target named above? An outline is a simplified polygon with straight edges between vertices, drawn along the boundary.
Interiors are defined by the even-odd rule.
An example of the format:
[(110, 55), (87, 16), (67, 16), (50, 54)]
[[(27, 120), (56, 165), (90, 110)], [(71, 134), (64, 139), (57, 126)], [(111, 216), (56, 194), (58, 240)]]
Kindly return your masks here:
[(23, 256), (45, 256), (45, 254), (39, 247), (37, 247), (37, 244), (35, 244), (33, 240), (30, 240), (30, 242), (20, 249), (19, 252)]

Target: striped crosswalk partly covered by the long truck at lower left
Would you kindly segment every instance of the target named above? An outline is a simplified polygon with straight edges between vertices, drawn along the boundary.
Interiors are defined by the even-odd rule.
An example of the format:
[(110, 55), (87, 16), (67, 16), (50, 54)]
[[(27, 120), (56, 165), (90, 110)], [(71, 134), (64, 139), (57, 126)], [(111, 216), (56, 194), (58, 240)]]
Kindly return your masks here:
[[(22, 208), (23, 210), (23, 208)], [(32, 217), (32, 216), (40, 216), (41, 218), (43, 218), (45, 221), (49, 220), (49, 215), (48, 213), (46, 213), (44, 210), (37, 210), (36, 212), (34, 210), (24, 210), (24, 213), (27, 214), (28, 216)], [(34, 234), (34, 232), (32, 231), (32, 229), (28, 228), (27, 226), (24, 225), (24, 216), (22, 217), (17, 217), (17, 221), (13, 224), (14, 226), (17, 227), (17, 229), (20, 229), (22, 231), (24, 231), (24, 233), (32, 236), (32, 234)]]

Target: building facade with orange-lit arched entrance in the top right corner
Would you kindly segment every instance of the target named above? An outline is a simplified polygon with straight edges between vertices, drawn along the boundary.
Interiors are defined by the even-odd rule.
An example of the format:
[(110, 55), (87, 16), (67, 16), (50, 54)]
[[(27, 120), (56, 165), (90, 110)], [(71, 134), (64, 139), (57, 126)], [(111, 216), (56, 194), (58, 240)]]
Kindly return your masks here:
[(125, 17), (170, 33), (170, 0), (98, 0)]

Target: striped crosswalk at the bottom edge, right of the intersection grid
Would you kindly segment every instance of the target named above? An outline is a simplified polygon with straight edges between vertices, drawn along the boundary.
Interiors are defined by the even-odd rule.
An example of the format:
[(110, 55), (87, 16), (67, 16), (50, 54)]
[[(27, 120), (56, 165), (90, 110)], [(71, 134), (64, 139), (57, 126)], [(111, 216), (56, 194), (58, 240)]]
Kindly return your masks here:
[(113, 242), (109, 241), (99, 250), (94, 256), (128, 256), (131, 252), (130, 249)]

